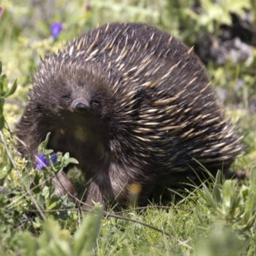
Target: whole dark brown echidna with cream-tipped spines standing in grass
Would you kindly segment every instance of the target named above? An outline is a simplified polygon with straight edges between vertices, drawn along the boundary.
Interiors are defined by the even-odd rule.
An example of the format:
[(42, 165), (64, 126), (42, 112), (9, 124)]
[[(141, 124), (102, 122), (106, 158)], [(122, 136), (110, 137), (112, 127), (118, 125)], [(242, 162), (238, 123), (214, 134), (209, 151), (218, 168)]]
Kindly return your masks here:
[(125, 205), (133, 183), (145, 200), (159, 184), (200, 175), (198, 163), (228, 171), (241, 151), (193, 51), (146, 24), (108, 24), (76, 38), (42, 61), (30, 98), (16, 127), (28, 145), (20, 151), (35, 159), (51, 132), (48, 147), (79, 161), (88, 204), (117, 197)]

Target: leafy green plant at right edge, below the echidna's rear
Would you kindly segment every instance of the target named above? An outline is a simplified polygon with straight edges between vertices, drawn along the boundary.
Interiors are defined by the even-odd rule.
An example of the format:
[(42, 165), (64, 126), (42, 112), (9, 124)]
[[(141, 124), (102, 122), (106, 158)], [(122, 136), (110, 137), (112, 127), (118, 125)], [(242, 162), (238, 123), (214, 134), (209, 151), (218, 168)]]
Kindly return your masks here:
[(237, 186), (236, 180), (226, 180), (220, 186), (220, 172), (212, 192), (204, 186), (204, 198), (215, 212), (218, 220), (245, 232), (256, 220), (256, 170), (252, 170), (250, 187)]

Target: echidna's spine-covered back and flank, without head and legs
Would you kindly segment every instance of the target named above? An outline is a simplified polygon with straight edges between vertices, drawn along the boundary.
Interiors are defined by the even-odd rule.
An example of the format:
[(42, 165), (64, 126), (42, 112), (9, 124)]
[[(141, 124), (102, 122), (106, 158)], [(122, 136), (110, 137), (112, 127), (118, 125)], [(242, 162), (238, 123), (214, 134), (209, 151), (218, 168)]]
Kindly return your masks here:
[(141, 23), (107, 24), (77, 38), (70, 51), (113, 79), (108, 86), (122, 115), (116, 125), (127, 131), (120, 141), (127, 157), (134, 159), (135, 150), (138, 161), (170, 175), (198, 170), (193, 159), (210, 171), (229, 168), (241, 151), (193, 49), (168, 33)]

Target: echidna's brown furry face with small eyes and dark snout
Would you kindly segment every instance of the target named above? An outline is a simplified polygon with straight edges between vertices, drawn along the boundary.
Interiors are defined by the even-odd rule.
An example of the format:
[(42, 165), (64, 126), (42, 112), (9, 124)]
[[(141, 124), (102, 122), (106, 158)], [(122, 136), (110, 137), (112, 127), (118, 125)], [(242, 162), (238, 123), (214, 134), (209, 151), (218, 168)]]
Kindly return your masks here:
[[(58, 72), (57, 72), (58, 71)], [(36, 102), (47, 116), (64, 116), (79, 122), (85, 118), (108, 118), (111, 100), (108, 81), (102, 74), (86, 68), (61, 68), (47, 77), (35, 79), (31, 96), (41, 95)]]

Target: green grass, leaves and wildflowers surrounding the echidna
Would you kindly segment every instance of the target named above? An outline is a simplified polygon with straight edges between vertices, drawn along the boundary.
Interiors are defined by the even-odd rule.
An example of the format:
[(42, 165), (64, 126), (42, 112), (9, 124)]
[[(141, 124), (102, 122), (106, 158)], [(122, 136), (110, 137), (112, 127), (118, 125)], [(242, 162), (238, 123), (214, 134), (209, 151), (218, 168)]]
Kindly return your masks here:
[[(168, 206), (87, 214), (67, 196), (56, 198), (51, 178), (76, 160), (39, 148), (44, 172), (15, 150), (13, 125), (22, 115), (31, 74), (49, 52), (84, 31), (113, 21), (141, 21), (189, 46), (220, 38), (232, 15), (251, 15), (254, 0), (95, 0), (0, 3), (0, 252), (1, 255), (255, 255), (256, 254), (256, 39), (246, 61), (207, 61), (223, 108), (246, 148), (232, 166), (250, 172), (243, 182), (220, 173), (193, 191), (172, 191)], [(249, 13), (249, 14), (248, 14)], [(256, 34), (256, 32), (254, 32)], [(256, 35), (254, 36), (256, 37)], [(246, 42), (246, 44), (250, 44)], [(17, 79), (17, 80), (16, 80)], [(43, 154), (43, 155), (42, 155)], [(79, 184), (79, 173), (72, 173)], [(81, 183), (81, 182), (80, 182)]]

